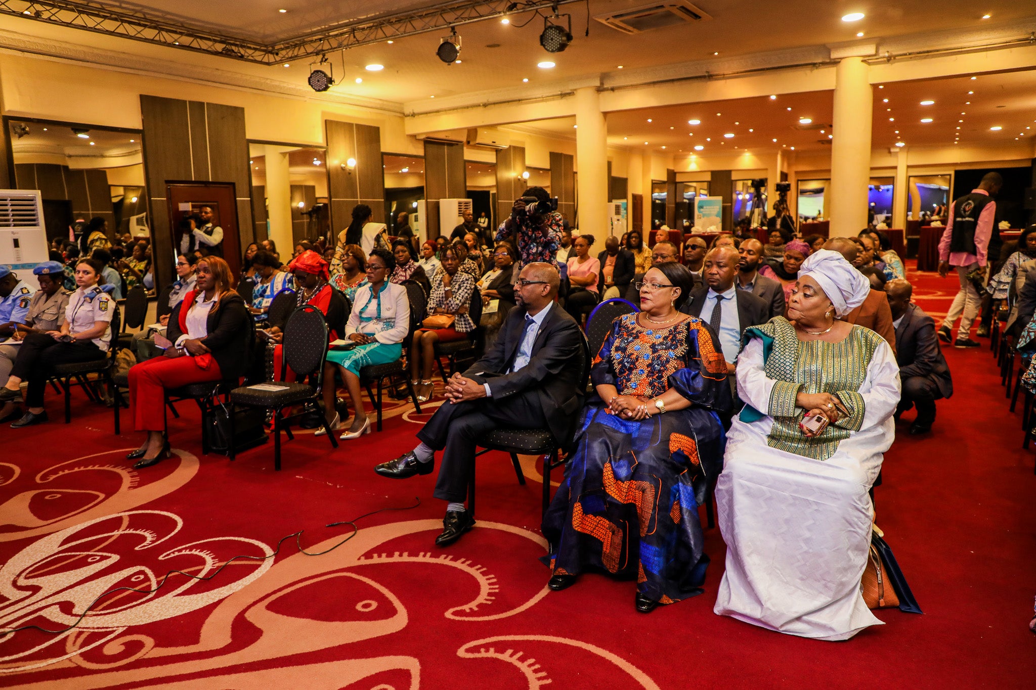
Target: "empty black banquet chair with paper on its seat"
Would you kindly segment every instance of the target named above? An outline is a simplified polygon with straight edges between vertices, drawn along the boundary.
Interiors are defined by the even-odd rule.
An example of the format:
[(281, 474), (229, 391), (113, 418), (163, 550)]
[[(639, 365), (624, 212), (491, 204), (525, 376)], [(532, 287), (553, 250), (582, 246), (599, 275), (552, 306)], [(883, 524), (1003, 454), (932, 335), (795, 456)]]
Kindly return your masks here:
[[(280, 293), (283, 295), (284, 293)], [(276, 298), (275, 298), (276, 299)], [(320, 415), (320, 421), (330, 440), (330, 445), (338, 448), (338, 439), (327, 425), (320, 407), (317, 404), (320, 379), (323, 374), (323, 362), (327, 356), (327, 322), (324, 316), (316, 307), (305, 304), (296, 308), (288, 318), (288, 323), (284, 327), (283, 357), (281, 358), (281, 381), (267, 382), (263, 387), (242, 386), (230, 392), (231, 412), (233, 407), (262, 408), (274, 411), (274, 469), (281, 469), (281, 428), (283, 426), (288, 440), (293, 440), (290, 422), (293, 417), (298, 417), (307, 412), (316, 410)], [(299, 380), (310, 377), (310, 382), (315, 386), (300, 383), (288, 383), (284, 381), (287, 367), (295, 372)], [(300, 413), (291, 418), (281, 417), (281, 411), (292, 404), (303, 404)], [(234, 438), (233, 428), (234, 415), (230, 415), (231, 427), (230, 438)], [(234, 459), (234, 452), (231, 449), (230, 459)]]

